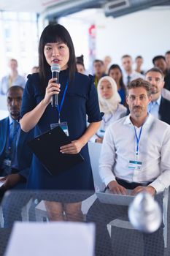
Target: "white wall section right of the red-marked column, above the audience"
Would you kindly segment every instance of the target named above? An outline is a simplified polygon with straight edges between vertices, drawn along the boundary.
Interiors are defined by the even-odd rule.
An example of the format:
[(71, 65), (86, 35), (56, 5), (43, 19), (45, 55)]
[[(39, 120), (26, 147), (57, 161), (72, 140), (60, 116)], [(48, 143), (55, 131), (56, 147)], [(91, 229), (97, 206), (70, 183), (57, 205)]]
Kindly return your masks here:
[(102, 59), (112, 56), (120, 64), (123, 54), (144, 57), (144, 67), (152, 67), (155, 55), (170, 50), (170, 9), (148, 9), (120, 18), (105, 18), (98, 14), (96, 54)]

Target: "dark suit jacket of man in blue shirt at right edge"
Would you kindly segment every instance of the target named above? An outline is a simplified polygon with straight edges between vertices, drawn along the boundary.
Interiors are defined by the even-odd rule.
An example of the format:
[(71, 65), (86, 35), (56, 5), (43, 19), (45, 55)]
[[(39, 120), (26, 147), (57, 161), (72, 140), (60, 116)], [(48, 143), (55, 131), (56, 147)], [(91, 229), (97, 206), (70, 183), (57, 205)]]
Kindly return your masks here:
[(161, 121), (170, 124), (170, 100), (161, 97), (159, 116)]

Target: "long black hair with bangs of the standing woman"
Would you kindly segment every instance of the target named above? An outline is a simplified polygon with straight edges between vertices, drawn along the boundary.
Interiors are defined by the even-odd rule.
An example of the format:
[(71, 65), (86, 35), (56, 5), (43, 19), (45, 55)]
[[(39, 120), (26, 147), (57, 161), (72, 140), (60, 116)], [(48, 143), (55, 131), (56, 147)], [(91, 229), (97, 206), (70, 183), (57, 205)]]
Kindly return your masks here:
[(60, 24), (50, 24), (42, 31), (42, 35), (39, 39), (39, 75), (42, 80), (42, 84), (46, 87), (47, 74), (50, 72), (50, 65), (45, 59), (44, 49), (45, 45), (50, 42), (63, 42), (69, 48), (69, 80), (74, 79), (76, 71), (76, 57), (74, 52), (74, 45), (69, 32)]

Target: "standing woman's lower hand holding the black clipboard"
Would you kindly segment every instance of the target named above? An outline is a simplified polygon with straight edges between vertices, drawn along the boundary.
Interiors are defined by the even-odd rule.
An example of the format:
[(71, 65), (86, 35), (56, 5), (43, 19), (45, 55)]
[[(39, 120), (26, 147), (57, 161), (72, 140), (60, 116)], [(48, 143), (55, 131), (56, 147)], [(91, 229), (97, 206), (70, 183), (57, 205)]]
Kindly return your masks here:
[(73, 140), (72, 143), (61, 146), (61, 153), (63, 154), (77, 154), (82, 147), (85, 146), (81, 140)]

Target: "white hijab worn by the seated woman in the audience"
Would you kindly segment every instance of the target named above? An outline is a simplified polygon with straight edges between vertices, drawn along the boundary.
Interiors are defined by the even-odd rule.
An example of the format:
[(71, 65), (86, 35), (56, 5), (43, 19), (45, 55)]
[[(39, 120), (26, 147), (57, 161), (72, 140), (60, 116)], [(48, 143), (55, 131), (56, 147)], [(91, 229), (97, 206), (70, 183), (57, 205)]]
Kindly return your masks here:
[[(101, 82), (103, 80), (108, 80), (112, 86), (113, 95), (109, 99), (104, 99), (101, 96), (100, 86), (101, 86)], [(98, 101), (99, 101), (99, 106), (100, 106), (101, 112), (104, 112), (105, 114), (114, 113), (115, 110), (117, 110), (117, 106), (118, 106), (119, 102), (121, 102), (120, 95), (117, 92), (117, 84), (116, 84), (115, 80), (109, 76), (104, 76), (103, 78), (101, 78), (98, 81), (97, 91), (98, 91)]]

